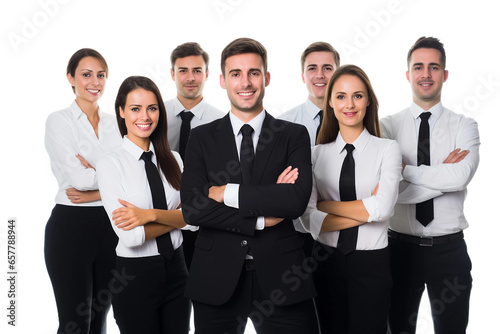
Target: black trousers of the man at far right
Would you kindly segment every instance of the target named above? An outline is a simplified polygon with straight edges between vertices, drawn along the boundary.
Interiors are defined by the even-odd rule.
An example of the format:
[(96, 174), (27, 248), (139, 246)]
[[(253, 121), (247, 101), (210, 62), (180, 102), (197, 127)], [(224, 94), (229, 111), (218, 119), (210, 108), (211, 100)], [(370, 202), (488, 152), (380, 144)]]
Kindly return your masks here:
[(389, 238), (389, 246), (394, 278), (389, 333), (415, 333), (426, 287), (434, 332), (465, 333), (472, 288), (472, 265), (465, 241), (426, 247)]

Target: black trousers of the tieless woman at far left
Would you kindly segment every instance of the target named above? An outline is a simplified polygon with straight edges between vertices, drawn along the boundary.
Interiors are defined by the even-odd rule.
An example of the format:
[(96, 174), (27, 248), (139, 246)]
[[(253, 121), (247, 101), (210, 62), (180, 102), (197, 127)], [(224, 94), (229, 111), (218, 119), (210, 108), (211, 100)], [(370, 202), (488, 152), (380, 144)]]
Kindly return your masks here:
[(45, 228), (45, 264), (57, 333), (105, 333), (118, 238), (102, 206), (56, 205)]

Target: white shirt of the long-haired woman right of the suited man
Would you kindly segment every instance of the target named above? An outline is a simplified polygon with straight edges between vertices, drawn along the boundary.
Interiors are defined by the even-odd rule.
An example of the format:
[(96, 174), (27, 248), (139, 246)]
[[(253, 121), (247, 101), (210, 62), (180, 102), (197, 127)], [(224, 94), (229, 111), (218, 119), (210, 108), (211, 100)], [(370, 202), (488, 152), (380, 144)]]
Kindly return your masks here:
[[(346, 142), (337, 136), (334, 142), (312, 148), (313, 189), (306, 212), (300, 220), (314, 239), (330, 247), (337, 247), (339, 231), (321, 232), (326, 212), (319, 211), (322, 200), (340, 201), (339, 179), (347, 154)], [(401, 151), (393, 140), (370, 135), (364, 129), (352, 143), (355, 147), (356, 196), (363, 201), (370, 217), (359, 226), (356, 250), (374, 250), (387, 247), (389, 217), (394, 212), (401, 179)], [(376, 195), (372, 195), (379, 185)]]

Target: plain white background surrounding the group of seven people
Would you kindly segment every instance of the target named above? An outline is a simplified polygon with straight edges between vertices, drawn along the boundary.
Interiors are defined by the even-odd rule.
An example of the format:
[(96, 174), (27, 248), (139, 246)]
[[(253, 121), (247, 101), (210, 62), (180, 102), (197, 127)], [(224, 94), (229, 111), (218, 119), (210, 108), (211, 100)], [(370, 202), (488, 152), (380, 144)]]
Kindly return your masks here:
[[(54, 333), (57, 313), (45, 269), (43, 239), (54, 206), (56, 182), (43, 145), (49, 113), (70, 105), (66, 80), (70, 56), (82, 47), (101, 52), (109, 65), (101, 108), (113, 113), (117, 89), (130, 75), (146, 75), (163, 97), (175, 96), (169, 56), (177, 45), (196, 41), (210, 54), (207, 101), (228, 110), (219, 86), (220, 52), (237, 37), (267, 47), (271, 83), (264, 105), (277, 116), (302, 103), (300, 54), (315, 41), (330, 42), (341, 63), (361, 66), (380, 102), (380, 116), (411, 102), (406, 53), (420, 36), (444, 43), (450, 72), (443, 104), (473, 117), (481, 134), (481, 164), (469, 185), (466, 240), (473, 261), (469, 333), (498, 328), (500, 288), (498, 187), (500, 71), (498, 13), (492, 1), (104, 1), (23, 0), (0, 5), (0, 319), (2, 333)], [(495, 161), (493, 161), (495, 160)], [(17, 220), (17, 326), (7, 325), (7, 220)], [(5, 278), (3, 278), (5, 277)], [(431, 333), (427, 302), (418, 333)], [(117, 333), (112, 318), (109, 333)], [(248, 332), (251, 332), (249, 330)]]

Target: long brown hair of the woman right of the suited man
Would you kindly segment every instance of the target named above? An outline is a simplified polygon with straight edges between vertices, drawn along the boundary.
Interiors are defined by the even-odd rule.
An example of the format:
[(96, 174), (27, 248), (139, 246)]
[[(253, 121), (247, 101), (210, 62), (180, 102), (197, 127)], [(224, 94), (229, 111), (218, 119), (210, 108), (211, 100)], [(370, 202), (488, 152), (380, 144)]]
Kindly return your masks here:
[(321, 123), (316, 144), (331, 143), (337, 139), (339, 134), (339, 120), (335, 117), (333, 108), (330, 106), (330, 100), (332, 98), (333, 85), (343, 75), (354, 75), (365, 84), (370, 104), (366, 107), (363, 125), (371, 135), (381, 137), (380, 123), (378, 120), (378, 100), (372, 84), (370, 83), (370, 79), (368, 79), (366, 73), (358, 66), (343, 65), (333, 72), (328, 82), (328, 86), (326, 87), (325, 101), (323, 104), (323, 122)]

